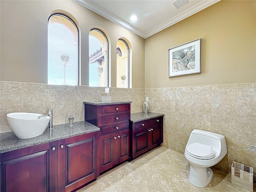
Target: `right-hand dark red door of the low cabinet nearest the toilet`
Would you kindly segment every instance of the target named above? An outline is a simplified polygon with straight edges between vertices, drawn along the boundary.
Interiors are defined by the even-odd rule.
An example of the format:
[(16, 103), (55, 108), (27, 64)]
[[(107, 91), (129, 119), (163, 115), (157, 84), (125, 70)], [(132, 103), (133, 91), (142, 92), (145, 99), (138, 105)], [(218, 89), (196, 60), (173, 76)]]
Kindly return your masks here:
[(163, 126), (161, 124), (155, 124), (150, 127), (151, 134), (149, 138), (150, 149), (160, 145), (163, 142)]

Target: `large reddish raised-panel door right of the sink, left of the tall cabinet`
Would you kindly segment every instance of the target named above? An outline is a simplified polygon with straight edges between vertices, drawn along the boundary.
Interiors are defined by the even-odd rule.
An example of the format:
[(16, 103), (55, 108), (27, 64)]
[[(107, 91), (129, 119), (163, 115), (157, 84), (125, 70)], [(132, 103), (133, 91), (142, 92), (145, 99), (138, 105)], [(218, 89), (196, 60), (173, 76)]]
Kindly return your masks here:
[(58, 141), (64, 146), (58, 153), (59, 191), (70, 192), (99, 176), (97, 143), (94, 133)]

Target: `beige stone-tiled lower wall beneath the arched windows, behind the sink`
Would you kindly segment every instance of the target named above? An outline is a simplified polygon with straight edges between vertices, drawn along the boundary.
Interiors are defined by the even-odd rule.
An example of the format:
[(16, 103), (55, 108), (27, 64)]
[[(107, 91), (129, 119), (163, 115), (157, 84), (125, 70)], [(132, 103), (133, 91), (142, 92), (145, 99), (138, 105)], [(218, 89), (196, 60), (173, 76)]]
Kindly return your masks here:
[[(6, 114), (32, 112), (47, 114), (53, 109), (53, 124), (84, 120), (84, 101), (101, 101), (103, 87), (65, 86), (37, 83), (0, 82), (0, 132), (12, 131)], [(144, 89), (110, 88), (112, 100), (132, 101), (131, 112), (141, 112)]]

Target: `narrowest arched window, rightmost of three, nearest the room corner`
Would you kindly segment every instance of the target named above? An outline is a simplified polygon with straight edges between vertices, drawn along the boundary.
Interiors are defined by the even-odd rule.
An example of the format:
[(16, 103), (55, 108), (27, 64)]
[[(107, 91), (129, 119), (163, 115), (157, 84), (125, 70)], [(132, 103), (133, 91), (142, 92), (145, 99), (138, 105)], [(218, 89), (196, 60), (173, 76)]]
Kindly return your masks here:
[(122, 39), (116, 44), (116, 87), (129, 88), (129, 48)]

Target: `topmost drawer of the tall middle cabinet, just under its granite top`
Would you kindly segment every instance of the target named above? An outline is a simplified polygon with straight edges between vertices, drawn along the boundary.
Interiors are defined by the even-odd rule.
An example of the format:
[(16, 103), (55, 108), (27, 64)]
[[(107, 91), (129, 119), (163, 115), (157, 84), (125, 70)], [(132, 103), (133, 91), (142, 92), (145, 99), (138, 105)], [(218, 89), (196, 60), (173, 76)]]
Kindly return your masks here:
[(116, 113), (116, 112), (130, 112), (129, 104), (116, 104), (116, 105), (107, 105), (99, 106), (98, 115)]

